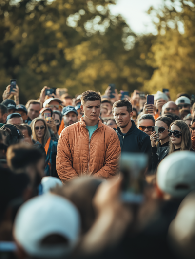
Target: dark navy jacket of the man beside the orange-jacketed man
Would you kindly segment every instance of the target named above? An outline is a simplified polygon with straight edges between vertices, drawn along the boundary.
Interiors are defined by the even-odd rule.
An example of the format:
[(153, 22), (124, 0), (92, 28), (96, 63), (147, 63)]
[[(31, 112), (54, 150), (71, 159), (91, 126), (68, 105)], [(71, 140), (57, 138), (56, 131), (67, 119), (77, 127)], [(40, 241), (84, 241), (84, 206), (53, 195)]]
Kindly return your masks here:
[(140, 152), (150, 154), (151, 141), (150, 137), (136, 127), (134, 121), (130, 130), (125, 136), (122, 135), (120, 128), (117, 127), (117, 135), (120, 140), (121, 152)]

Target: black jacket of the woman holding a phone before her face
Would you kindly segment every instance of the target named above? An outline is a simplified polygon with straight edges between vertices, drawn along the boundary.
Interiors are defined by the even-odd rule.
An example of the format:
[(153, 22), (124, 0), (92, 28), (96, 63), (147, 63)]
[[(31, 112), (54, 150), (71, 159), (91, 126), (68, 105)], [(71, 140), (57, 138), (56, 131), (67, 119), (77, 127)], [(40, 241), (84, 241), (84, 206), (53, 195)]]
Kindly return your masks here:
[(169, 153), (169, 142), (164, 143), (162, 146), (160, 143), (157, 147), (151, 147), (152, 151), (152, 171), (156, 171), (156, 168), (162, 159), (164, 159)]

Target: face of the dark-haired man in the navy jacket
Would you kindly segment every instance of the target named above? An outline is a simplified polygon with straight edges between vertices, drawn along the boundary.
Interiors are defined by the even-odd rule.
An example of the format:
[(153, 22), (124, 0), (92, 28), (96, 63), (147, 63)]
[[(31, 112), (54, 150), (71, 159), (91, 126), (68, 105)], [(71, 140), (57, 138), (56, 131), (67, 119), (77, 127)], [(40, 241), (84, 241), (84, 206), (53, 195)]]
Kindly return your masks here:
[(125, 128), (133, 116), (133, 112), (129, 113), (127, 107), (115, 107), (113, 110), (114, 118), (119, 128)]

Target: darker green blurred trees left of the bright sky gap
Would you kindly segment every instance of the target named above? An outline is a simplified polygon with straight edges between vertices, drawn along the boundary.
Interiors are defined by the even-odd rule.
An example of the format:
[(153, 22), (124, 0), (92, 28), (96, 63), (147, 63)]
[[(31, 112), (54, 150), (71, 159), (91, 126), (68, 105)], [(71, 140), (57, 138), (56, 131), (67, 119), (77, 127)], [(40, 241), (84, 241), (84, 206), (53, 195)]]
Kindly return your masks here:
[(143, 86), (154, 68), (146, 63), (155, 36), (138, 38), (121, 16), (110, 14), (114, 0), (0, 0), (0, 96), (18, 80), (20, 102), (40, 90), (66, 87), (70, 95)]

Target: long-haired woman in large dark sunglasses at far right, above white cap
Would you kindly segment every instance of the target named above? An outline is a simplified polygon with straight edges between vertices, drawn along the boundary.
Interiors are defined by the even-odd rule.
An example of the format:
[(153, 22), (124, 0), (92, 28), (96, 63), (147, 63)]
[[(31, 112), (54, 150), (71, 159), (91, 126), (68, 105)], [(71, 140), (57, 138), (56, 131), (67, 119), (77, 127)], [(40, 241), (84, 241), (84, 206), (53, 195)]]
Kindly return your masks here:
[(191, 150), (192, 140), (188, 125), (183, 120), (176, 120), (170, 125), (168, 130), (169, 140), (169, 154), (179, 150)]

